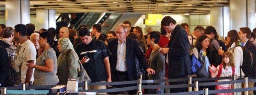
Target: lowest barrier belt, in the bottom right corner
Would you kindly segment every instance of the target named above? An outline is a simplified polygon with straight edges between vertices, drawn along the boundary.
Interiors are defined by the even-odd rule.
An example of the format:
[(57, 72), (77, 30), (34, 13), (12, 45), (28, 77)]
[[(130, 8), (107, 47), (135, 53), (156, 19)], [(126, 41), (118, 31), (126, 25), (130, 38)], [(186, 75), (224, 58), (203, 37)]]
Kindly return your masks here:
[(215, 94), (215, 93), (233, 93), (233, 92), (244, 92), (244, 91), (252, 91), (252, 90), (256, 90), (256, 87), (252, 87), (252, 88), (227, 89), (227, 90), (208, 90), (208, 94)]

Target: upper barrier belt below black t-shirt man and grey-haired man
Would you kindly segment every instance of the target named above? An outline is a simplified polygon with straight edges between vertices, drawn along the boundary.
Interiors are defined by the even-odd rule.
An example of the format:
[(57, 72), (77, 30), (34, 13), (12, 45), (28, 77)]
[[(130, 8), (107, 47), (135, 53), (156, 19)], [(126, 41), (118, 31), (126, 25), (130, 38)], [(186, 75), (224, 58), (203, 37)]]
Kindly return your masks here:
[(118, 81), (118, 82), (94, 82), (88, 83), (88, 86), (101, 86), (101, 85), (123, 85), (123, 84), (137, 84), (139, 81)]

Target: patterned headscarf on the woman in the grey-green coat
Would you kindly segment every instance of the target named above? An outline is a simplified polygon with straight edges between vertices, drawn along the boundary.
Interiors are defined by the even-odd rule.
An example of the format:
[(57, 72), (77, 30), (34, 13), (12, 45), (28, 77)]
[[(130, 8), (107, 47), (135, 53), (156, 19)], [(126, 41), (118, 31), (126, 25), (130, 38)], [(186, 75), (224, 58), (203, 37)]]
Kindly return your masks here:
[(60, 48), (62, 50), (57, 59), (57, 63), (60, 63), (64, 54), (66, 54), (66, 52), (70, 49), (74, 50), (74, 47), (69, 38), (59, 38), (58, 42), (61, 44)]

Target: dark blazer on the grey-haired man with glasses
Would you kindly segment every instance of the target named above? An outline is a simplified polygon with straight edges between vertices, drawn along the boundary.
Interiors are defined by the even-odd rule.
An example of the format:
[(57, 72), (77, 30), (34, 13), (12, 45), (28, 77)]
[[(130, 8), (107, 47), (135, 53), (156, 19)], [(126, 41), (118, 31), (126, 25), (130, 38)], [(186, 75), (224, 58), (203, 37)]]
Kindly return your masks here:
[[(111, 68), (111, 79), (112, 81), (118, 81), (115, 77), (116, 75), (116, 66), (117, 66), (117, 46), (118, 46), (118, 39), (111, 40), (107, 47), (112, 52), (112, 55), (109, 56), (110, 60), (110, 68)], [(145, 55), (139, 48), (139, 44), (136, 40), (132, 38), (126, 38), (126, 68), (129, 80), (136, 80), (136, 65), (135, 60), (136, 58), (139, 61), (139, 64), (146, 70), (149, 68), (148, 64), (146, 63)]]

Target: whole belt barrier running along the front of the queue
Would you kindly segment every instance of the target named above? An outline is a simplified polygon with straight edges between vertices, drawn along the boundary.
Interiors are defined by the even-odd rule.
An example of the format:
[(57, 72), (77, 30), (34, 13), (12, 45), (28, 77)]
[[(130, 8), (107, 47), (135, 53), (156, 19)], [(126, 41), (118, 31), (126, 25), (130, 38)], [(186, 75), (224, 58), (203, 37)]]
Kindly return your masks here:
[[(219, 79), (232, 79), (232, 77), (220, 77), (220, 78), (193, 78), (192, 81), (213, 81)], [(160, 80), (134, 80), (134, 81), (119, 81), (119, 82), (96, 82), (96, 83), (88, 83), (88, 86), (99, 86), (99, 85), (124, 85), (124, 84), (147, 84), (147, 83), (160, 83), (160, 82), (177, 82), (177, 81), (188, 81), (188, 78), (179, 78), (179, 79), (160, 79)], [(245, 79), (238, 79), (233, 81), (221, 81), (221, 82), (199, 82), (198, 86), (214, 86), (220, 84), (235, 84), (245, 82)], [(248, 82), (256, 82), (256, 79), (248, 79)], [(49, 89), (54, 87), (55, 85), (49, 86), (26, 86), (25, 90), (30, 89)], [(79, 83), (79, 87), (85, 86), (84, 83)], [(188, 88), (193, 87), (195, 84), (176, 84), (176, 85), (142, 85), (141, 88), (145, 89), (156, 89), (156, 88)], [(78, 90), (79, 92), (98, 92), (98, 93), (110, 93), (110, 92), (121, 92), (127, 90), (136, 90), (139, 89), (140, 86), (130, 86), (124, 88), (110, 88), (110, 89), (99, 89), (99, 90)], [(6, 87), (8, 90), (21, 90), (23, 89), (22, 85), (20, 86), (11, 86)], [(208, 94), (215, 93), (234, 93), (234, 92), (243, 92), (249, 90), (256, 90), (256, 87), (252, 88), (238, 88), (238, 89), (229, 89), (229, 90), (208, 90)], [(1, 92), (2, 89), (1, 89)], [(6, 91), (5, 91), (6, 92)], [(204, 94), (204, 90), (192, 91), (192, 92), (181, 92), (181, 93), (167, 93), (161, 95), (199, 95)], [(160, 95), (160, 94), (146, 94), (146, 95)]]

